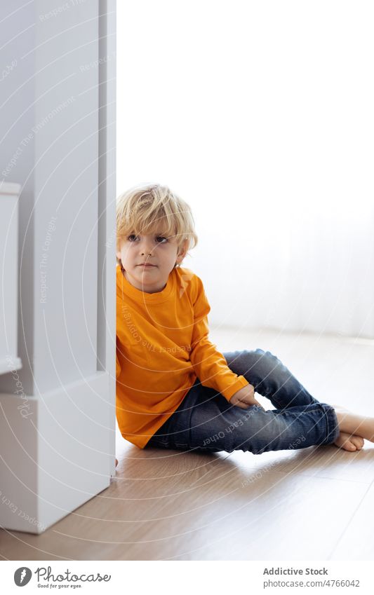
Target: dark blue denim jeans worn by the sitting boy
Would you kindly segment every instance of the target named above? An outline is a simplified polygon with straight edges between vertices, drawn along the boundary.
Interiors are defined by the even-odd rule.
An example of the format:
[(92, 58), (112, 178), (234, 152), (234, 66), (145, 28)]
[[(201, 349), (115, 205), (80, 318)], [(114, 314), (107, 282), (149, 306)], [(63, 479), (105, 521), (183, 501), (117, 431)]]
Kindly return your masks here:
[(320, 403), (269, 351), (224, 353), (228, 367), (243, 375), (276, 409), (241, 409), (199, 378), (182, 403), (149, 439), (156, 446), (188, 451), (265, 451), (306, 449), (331, 444), (339, 436), (333, 406)]

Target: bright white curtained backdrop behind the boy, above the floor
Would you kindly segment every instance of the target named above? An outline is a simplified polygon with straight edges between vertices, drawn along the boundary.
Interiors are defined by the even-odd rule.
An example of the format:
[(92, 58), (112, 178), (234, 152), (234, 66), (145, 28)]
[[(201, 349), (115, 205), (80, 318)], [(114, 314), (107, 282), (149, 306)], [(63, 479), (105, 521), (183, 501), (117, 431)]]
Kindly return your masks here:
[(211, 322), (374, 337), (373, 13), (119, 3), (117, 189), (192, 206)]

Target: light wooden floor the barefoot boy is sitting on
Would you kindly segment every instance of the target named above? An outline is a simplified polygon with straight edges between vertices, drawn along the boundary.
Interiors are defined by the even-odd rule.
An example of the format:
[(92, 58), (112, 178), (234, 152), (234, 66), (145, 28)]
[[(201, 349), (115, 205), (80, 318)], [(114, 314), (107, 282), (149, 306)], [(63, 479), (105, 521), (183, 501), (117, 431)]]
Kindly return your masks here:
[[(317, 399), (374, 416), (374, 342), (233, 329), (225, 352), (277, 355)], [(259, 397), (267, 409), (272, 405)], [(41, 535), (0, 531), (10, 560), (372, 560), (374, 444), (142, 451), (117, 440), (111, 486)]]

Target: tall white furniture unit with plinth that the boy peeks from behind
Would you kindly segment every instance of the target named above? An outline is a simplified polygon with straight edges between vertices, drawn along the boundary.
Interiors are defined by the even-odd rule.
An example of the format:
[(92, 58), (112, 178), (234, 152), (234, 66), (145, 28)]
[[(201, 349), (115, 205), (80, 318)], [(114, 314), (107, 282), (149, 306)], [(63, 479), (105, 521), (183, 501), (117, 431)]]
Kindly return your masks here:
[[(9, 34), (6, 60), (17, 62), (2, 81), (8, 93), (0, 114), (0, 136), (6, 137), (0, 146), (3, 167), (29, 135), (27, 150), (22, 144), (6, 179), (21, 185), (22, 369), (17, 378), (22, 391), (16, 391), (15, 369), (0, 375), (0, 526), (27, 533), (45, 531), (107, 488), (115, 473), (116, 1), (74, 3), (55, 15), (48, 15), (48, 8), (46, 1), (35, 0), (22, 13), (14, 11), (14, 18), (6, 6), (0, 9)], [(13, 41), (28, 23), (33, 23), (32, 35)], [(20, 93), (22, 114), (11, 98)], [(73, 107), (56, 109), (60, 97), (69, 95)], [(82, 117), (76, 115), (80, 110)], [(70, 153), (74, 158), (69, 162)], [(81, 219), (81, 238), (69, 219), (75, 210), (79, 217), (80, 209), (91, 217)], [(41, 305), (41, 246), (55, 212), (47, 261), (49, 301)], [(70, 311), (63, 312), (67, 329), (58, 326), (65, 320), (60, 294), (70, 304)], [(81, 347), (83, 333), (69, 322), (83, 327), (74, 303), (79, 312), (84, 306), (88, 322), (94, 322), (87, 329), (90, 334), (95, 328), (91, 351)], [(59, 341), (61, 353), (55, 347)]]

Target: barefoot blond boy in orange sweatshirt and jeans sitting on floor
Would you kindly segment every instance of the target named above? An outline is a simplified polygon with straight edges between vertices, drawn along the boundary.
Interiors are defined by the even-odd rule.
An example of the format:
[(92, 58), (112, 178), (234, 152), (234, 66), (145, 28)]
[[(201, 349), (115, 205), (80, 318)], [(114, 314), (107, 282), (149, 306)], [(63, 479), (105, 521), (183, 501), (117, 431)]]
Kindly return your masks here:
[[(374, 439), (374, 418), (320, 403), (272, 353), (220, 353), (201, 279), (182, 268), (197, 236), (189, 205), (138, 186), (116, 207), (116, 417), (138, 446), (259, 454)], [(255, 391), (275, 410), (265, 411)]]

